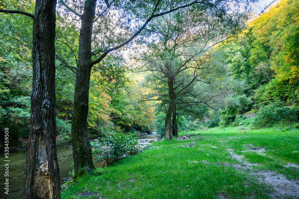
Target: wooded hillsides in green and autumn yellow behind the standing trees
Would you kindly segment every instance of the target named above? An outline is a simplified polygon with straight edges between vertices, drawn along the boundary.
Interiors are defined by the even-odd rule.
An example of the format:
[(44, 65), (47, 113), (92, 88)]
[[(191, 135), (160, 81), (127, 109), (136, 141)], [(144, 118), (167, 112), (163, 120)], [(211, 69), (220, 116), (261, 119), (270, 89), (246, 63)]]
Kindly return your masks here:
[[(16, 3), (16, 5), (11, 6), (32, 12), (34, 2)], [(197, 14), (203, 15), (202, 13)], [(20, 15), (0, 13), (0, 16), (1, 130), (4, 127), (9, 127), (11, 129), (10, 144), (20, 145), (19, 138), (28, 138), (29, 130), (32, 85), (32, 39), (30, 38), (32, 21), (28, 17)], [(173, 18), (177, 20), (178, 17), (182, 16), (177, 14), (173, 15)], [(65, 26), (65, 23), (69, 25)], [(163, 24), (161, 21), (155, 23)], [(186, 21), (178, 20), (178, 23), (183, 24)], [(195, 21), (194, 24), (196, 23), (198, 25), (203, 21)], [(218, 28), (220, 27), (219, 25)], [(171, 30), (173, 27), (169, 26), (168, 28)], [(224, 30), (222, 29), (222, 31)], [(73, 24), (66, 15), (57, 12), (55, 81), (58, 141), (69, 141), (71, 139), (70, 123), (73, 115), (76, 79), (74, 72), (77, 63), (76, 52), (79, 47), (79, 31), (78, 26)], [(165, 30), (155, 31), (163, 32)], [(143, 35), (143, 38), (144, 36), (147, 35)], [(92, 45), (100, 45), (97, 41), (98, 38), (94, 39)], [(138, 41), (141, 42), (141, 40)], [(170, 41), (170, 37), (166, 40)], [(184, 99), (177, 98), (177, 103), (181, 104), (187, 103), (188, 100), (189, 104), (191, 101), (194, 102), (192, 104), (194, 106), (190, 109), (178, 110), (174, 116), (175, 120), (172, 119), (171, 124), (178, 125), (178, 130), (199, 128), (204, 117), (212, 118), (209, 125), (213, 123), (213, 120), (215, 123), (213, 125), (218, 125), (219, 118), (229, 124), (235, 120), (237, 114), (259, 109), (262, 105), (267, 105), (270, 102), (283, 102), (285, 106), (299, 105), (298, 0), (282, 0), (272, 7), (269, 12), (263, 13), (259, 18), (248, 24), (248, 27), (238, 35), (237, 39), (232, 40), (229, 43), (219, 45), (217, 49), (213, 50), (213, 53), (209, 54), (210, 57), (207, 57), (214, 64), (222, 63), (221, 68), (217, 65), (217, 70), (221, 69), (221, 74), (219, 71), (215, 73), (214, 67), (210, 68), (208, 72), (198, 73), (194, 79), (198, 82), (212, 82), (212, 80), (215, 82), (216, 77), (218, 77), (219, 81), (222, 81), (222, 85), (217, 84), (213, 88), (204, 88), (204, 86), (199, 86), (197, 83), (192, 83), (193, 90), (186, 92), (188, 97)], [(148, 43), (145, 42), (144, 44)], [(186, 43), (186, 45), (189, 44)], [(192, 45), (195, 45), (195, 43), (193, 42)], [(150, 48), (159, 50), (154, 45), (149, 46)], [(193, 47), (193, 50), (196, 49)], [(135, 75), (129, 73), (131, 68), (127, 66), (122, 56), (118, 56), (118, 53), (107, 55), (101, 64), (95, 65), (91, 70), (88, 113), (89, 136), (100, 136), (102, 133), (112, 130), (118, 132), (136, 130), (140, 132), (164, 131), (165, 103), (155, 104), (150, 101), (143, 101), (144, 96), (150, 93), (149, 90), (144, 89), (146, 85), (151, 84), (147, 89), (150, 89), (152, 93), (153, 85), (157, 86), (156, 89), (159, 89), (162, 84), (159, 85), (160, 83), (153, 81), (153, 77), (146, 76), (144, 73), (141, 75), (146, 76), (144, 81), (137, 81), (136, 79), (139, 77), (136, 78), (136, 73)], [(213, 57), (212, 54), (216, 56)], [(163, 56), (166, 56), (166, 54), (159, 56), (164, 59)], [(200, 59), (198, 55), (196, 56)], [(190, 70), (189, 73), (191, 74), (192, 71)], [(208, 80), (208, 76), (213, 76), (213, 78)], [(187, 79), (183, 75), (180, 78)], [(224, 88), (227, 88), (225, 82), (231, 84), (229, 87), (232, 90), (227, 90), (221, 100), (220, 97), (215, 98), (209, 104), (205, 101), (206, 98), (201, 98), (200, 103), (204, 102), (205, 106), (198, 102), (198, 93), (213, 90), (213, 95), (206, 96), (218, 96), (215, 89), (222, 89), (223, 91)], [(187, 82), (184, 84), (187, 84)], [(142, 94), (140, 94), (140, 89), (138, 90), (140, 87), (144, 89)], [(199, 87), (200, 89), (198, 89)], [(164, 93), (161, 93), (162, 95)], [(140, 98), (141, 96), (143, 98)], [(164, 98), (161, 97), (160, 99), (163, 101)], [(133, 103), (137, 101), (140, 102)], [(209, 110), (210, 107), (215, 110)], [(178, 106), (174, 110), (177, 109)], [(0, 144), (3, 146), (2, 137)]]

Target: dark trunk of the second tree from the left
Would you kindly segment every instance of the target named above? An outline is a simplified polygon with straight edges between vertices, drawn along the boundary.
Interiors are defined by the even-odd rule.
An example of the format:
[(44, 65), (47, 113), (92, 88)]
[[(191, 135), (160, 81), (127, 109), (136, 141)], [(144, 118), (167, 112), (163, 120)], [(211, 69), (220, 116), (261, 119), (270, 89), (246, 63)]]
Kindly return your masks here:
[(91, 146), (87, 132), (89, 81), (91, 71), (91, 35), (96, 1), (86, 0), (81, 17), (79, 38), (78, 70), (74, 94), (74, 115), (72, 118), (72, 144), (75, 179), (85, 172), (94, 170)]

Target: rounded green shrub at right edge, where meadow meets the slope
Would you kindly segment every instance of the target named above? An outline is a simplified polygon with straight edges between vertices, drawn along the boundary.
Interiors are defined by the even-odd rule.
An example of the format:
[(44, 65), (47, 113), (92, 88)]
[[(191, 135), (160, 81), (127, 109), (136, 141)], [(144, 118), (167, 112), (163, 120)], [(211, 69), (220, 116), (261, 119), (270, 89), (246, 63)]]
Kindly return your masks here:
[(257, 128), (271, 127), (274, 124), (290, 125), (298, 122), (298, 107), (285, 107), (283, 103), (270, 102), (267, 106), (262, 106), (254, 118), (253, 125)]

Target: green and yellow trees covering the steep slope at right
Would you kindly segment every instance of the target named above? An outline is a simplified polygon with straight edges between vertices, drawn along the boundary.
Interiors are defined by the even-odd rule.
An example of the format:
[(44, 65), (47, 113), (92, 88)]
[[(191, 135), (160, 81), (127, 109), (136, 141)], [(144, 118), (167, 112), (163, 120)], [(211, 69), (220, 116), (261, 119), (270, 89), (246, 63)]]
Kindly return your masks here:
[(244, 81), (242, 93), (255, 107), (276, 100), (298, 105), (298, 3), (280, 1), (226, 48), (231, 73)]

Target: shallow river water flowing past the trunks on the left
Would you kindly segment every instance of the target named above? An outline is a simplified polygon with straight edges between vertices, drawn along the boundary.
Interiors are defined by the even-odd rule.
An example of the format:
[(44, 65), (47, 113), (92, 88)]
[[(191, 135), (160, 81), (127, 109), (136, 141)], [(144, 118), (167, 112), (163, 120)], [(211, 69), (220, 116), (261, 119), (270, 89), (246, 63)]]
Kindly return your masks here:
[[(160, 140), (161, 136), (156, 134), (150, 135), (139, 135), (139, 139), (157, 139)], [(67, 144), (57, 144), (57, 158), (59, 164), (59, 175), (60, 178), (67, 178), (69, 172), (72, 172), (72, 160), (73, 151), (71, 148), (71, 143)], [(5, 166), (4, 164), (4, 152), (1, 151), (0, 155), (0, 199), (17, 199), (23, 197), (23, 180), (24, 180), (24, 169), (26, 163), (27, 150), (10, 150), (9, 151), (9, 195), (4, 194), (4, 177)], [(93, 155), (94, 161), (97, 160), (97, 155)], [(94, 162), (95, 167), (103, 167), (104, 161)], [(60, 181), (60, 185), (62, 181)]]

